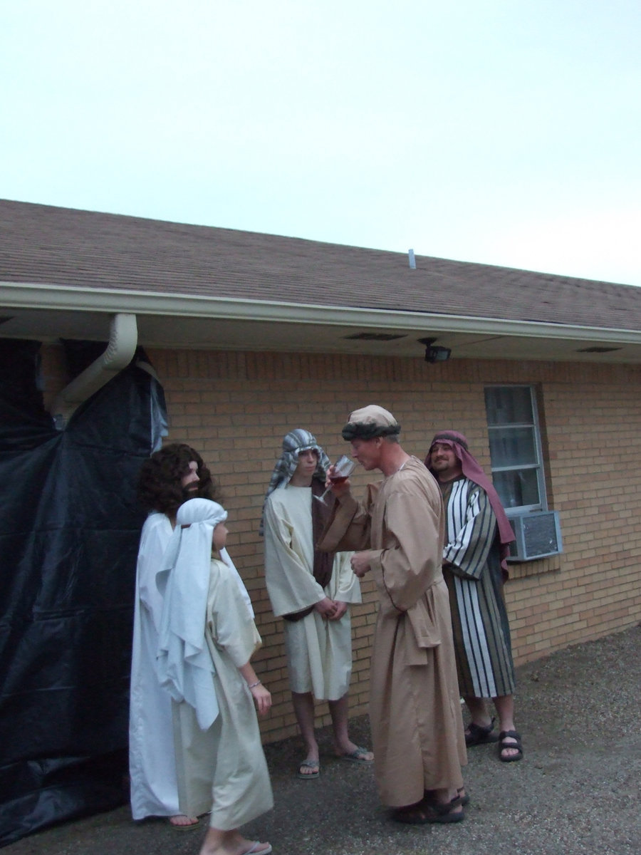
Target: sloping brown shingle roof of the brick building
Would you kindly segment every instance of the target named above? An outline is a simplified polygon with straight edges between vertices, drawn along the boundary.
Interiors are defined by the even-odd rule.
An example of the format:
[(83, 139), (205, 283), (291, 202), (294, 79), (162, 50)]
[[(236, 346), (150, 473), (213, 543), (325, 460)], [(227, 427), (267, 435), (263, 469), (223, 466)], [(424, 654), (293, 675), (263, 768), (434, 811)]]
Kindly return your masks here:
[(641, 289), (0, 200), (0, 281), (641, 329)]

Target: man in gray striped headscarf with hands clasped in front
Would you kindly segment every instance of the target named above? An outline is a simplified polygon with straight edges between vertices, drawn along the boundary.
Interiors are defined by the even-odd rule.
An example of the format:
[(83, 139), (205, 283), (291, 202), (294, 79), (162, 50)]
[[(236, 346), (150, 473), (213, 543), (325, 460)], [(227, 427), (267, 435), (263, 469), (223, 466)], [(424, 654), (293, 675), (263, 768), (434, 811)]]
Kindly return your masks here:
[[(263, 509), (265, 580), (275, 616), (285, 619), (285, 650), (291, 699), (307, 756), (297, 775), (317, 778), (321, 766), (314, 731), (314, 699), (327, 700), (338, 757), (371, 763), (373, 754), (356, 746), (347, 728), (351, 676), (350, 603), (361, 589), (350, 554), (315, 549), (329, 516), (317, 496), (329, 466), (315, 436), (297, 428), (285, 436)], [(330, 498), (330, 503), (332, 499)]]

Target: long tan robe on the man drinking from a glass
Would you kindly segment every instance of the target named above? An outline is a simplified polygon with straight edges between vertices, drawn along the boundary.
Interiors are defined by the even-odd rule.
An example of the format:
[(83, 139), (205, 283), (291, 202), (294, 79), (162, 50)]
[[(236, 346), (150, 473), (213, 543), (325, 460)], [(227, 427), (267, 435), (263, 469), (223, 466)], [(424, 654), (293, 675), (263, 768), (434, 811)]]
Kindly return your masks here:
[(462, 787), (467, 763), (443, 543), (440, 491), (416, 457), (368, 486), (365, 504), (341, 498), (321, 540), (327, 550), (376, 553), (369, 709), (379, 795), (393, 807), (420, 801), (424, 790)]

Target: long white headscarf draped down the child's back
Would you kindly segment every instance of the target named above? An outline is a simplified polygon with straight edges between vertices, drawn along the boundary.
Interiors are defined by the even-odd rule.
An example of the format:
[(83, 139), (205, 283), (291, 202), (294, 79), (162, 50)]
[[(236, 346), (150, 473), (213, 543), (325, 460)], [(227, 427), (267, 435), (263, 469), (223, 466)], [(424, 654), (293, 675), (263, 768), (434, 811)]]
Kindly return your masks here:
[(214, 529), (226, 510), (208, 498), (191, 498), (176, 514), (176, 528), (156, 574), (164, 593), (156, 669), (161, 685), (196, 711), (207, 730), (218, 716), (214, 664), (205, 640), (209, 567)]

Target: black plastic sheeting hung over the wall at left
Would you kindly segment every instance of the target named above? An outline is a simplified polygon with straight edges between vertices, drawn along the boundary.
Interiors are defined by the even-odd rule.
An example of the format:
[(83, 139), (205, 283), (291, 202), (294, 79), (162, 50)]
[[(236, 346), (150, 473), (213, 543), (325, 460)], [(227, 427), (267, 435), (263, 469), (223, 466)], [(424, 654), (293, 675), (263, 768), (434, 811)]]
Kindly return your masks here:
[(59, 432), (38, 345), (0, 347), (0, 846), (128, 796), (135, 488), (165, 423), (141, 362)]

